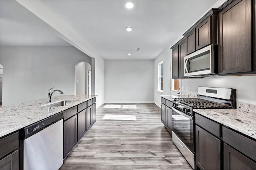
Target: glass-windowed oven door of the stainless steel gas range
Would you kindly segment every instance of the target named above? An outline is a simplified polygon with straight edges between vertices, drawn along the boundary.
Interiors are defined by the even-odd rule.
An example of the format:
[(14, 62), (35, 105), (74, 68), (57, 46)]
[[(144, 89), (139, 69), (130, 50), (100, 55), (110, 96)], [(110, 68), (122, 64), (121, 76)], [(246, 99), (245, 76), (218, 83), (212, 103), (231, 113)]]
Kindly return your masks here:
[(172, 107), (172, 131), (194, 153), (193, 116)]

